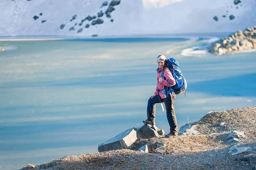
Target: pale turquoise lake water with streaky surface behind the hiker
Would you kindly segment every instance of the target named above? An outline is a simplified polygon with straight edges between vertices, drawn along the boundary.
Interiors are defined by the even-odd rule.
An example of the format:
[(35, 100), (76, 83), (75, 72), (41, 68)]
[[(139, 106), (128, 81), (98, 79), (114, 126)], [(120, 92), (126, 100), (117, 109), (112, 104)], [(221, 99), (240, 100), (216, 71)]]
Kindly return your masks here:
[[(20, 169), (97, 152), (142, 125), (156, 87), (156, 57), (176, 58), (188, 82), (177, 95), (178, 126), (209, 111), (256, 107), (255, 52), (181, 56), (205, 38), (0, 41), (0, 167)], [(168, 133), (157, 105), (156, 124)]]

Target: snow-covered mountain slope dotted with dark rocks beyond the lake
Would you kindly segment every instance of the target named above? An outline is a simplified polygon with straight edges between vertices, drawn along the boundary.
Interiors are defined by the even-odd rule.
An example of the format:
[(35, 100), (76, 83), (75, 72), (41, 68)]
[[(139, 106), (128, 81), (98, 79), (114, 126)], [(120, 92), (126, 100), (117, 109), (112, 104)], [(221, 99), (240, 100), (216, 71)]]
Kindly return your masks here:
[(255, 9), (256, 0), (0, 0), (0, 36), (233, 32), (256, 25)]

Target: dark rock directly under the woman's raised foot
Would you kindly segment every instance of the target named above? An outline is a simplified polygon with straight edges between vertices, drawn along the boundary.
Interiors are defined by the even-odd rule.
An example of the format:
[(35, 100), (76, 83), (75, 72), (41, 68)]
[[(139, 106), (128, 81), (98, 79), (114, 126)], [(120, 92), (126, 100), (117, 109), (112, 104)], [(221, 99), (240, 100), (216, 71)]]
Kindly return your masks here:
[(138, 133), (140, 134), (141, 138), (148, 139), (148, 138), (155, 138), (160, 136), (157, 132), (159, 129), (154, 125), (151, 126), (149, 124), (144, 124), (142, 127), (137, 128)]

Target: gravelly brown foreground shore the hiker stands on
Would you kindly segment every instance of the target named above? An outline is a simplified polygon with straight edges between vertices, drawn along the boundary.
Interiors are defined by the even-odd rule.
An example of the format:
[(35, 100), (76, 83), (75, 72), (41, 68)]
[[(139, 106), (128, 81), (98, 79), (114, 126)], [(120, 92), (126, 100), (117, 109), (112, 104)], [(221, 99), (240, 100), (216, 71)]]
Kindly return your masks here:
[[(255, 107), (209, 112), (189, 126), (198, 133), (139, 139), (133, 150), (65, 156), (21, 170), (256, 170)], [(136, 151), (144, 144), (148, 153)]]

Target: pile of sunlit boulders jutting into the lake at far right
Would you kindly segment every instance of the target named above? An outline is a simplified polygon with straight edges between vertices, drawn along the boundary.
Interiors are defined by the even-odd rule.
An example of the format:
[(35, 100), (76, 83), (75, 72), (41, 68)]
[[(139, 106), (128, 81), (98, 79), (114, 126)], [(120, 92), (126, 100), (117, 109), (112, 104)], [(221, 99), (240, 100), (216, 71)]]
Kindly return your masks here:
[(210, 53), (218, 55), (256, 49), (256, 26), (247, 28), (244, 31), (239, 30), (226, 38), (221, 38), (221, 40), (212, 43), (208, 49)]

